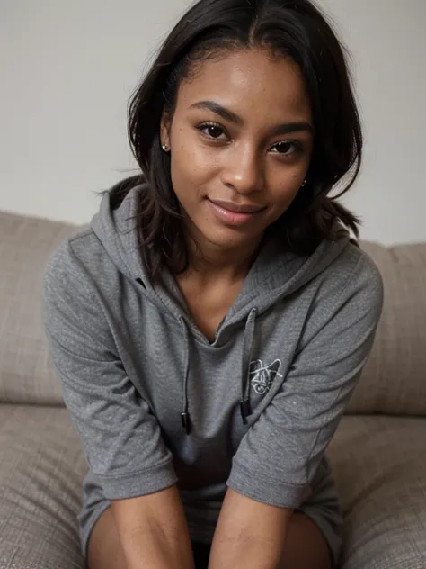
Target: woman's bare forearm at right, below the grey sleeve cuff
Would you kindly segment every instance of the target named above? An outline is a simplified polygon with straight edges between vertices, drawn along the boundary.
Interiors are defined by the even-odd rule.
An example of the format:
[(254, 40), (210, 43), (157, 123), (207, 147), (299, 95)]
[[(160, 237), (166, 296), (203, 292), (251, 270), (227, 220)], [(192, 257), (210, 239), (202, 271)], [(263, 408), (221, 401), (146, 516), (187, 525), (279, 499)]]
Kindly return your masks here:
[(293, 510), (269, 506), (230, 488), (220, 510), (209, 569), (276, 569)]

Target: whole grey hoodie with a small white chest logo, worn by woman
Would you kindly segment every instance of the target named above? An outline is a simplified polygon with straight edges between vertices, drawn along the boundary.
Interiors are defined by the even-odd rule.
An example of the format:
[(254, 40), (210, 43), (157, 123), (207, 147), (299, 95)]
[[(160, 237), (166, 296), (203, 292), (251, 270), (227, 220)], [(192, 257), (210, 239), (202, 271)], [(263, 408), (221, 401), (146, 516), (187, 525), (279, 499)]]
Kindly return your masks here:
[(50, 258), (45, 328), (90, 467), (84, 500), (177, 483), (191, 538), (209, 541), (227, 486), (280, 507), (306, 500), (372, 348), (383, 283), (347, 231), (306, 257), (271, 240), (210, 343), (165, 269), (149, 284), (142, 191), (115, 210), (104, 194)]

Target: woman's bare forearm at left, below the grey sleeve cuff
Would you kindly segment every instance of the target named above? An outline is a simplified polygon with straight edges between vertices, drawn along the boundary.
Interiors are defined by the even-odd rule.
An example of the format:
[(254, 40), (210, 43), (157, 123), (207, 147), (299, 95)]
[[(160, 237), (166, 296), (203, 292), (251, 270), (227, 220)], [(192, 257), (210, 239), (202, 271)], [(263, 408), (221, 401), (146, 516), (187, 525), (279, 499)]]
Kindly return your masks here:
[(126, 569), (193, 569), (191, 539), (175, 485), (146, 496), (112, 500), (111, 508)]

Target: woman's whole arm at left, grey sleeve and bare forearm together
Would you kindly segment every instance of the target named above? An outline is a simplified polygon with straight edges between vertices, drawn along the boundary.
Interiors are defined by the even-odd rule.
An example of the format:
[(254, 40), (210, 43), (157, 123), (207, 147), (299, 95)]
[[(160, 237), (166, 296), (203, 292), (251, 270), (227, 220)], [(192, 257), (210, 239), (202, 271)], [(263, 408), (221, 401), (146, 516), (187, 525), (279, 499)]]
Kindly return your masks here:
[[(163, 560), (152, 569), (189, 569), (173, 456), (145, 393), (120, 360), (89, 264), (66, 244), (52, 257), (43, 282), (43, 320), (67, 411), (111, 501), (129, 568), (150, 569), (140, 554)], [(182, 565), (167, 565), (171, 555)]]

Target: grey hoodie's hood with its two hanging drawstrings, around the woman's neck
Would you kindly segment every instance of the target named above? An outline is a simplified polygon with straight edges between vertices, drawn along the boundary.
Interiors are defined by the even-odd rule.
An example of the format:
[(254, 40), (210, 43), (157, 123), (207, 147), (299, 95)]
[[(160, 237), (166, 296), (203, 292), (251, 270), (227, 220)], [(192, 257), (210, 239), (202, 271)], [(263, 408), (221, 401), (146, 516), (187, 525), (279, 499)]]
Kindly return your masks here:
[[(140, 193), (146, 189), (146, 183), (136, 185), (129, 190), (121, 203), (112, 206), (111, 192), (103, 194), (102, 203), (91, 221), (91, 228), (102, 242), (117, 270), (129, 280), (141, 285), (143, 294), (149, 300), (178, 321), (182, 327), (182, 339), (185, 350), (185, 369), (183, 375), (182, 425), (186, 432), (191, 429), (188, 414), (187, 385), (190, 370), (190, 335), (201, 342), (208, 342), (198, 330), (191, 317), (184, 310), (184, 301), (172, 275), (164, 271), (164, 285), (151, 285), (147, 277), (146, 266), (138, 250), (137, 215)], [(244, 348), (242, 357), (242, 399), (241, 413), (244, 422), (251, 414), (249, 403), (249, 374), (255, 334), (256, 318), (280, 302), (284, 297), (306, 285), (330, 266), (351, 240), (349, 231), (341, 221), (336, 220), (334, 230), (339, 230), (342, 237), (336, 241), (324, 239), (309, 256), (297, 256), (280, 250), (280, 241), (270, 239), (261, 249), (258, 257), (244, 280), (244, 286), (233, 303), (226, 317), (217, 328), (212, 347), (221, 347), (226, 342), (223, 330), (234, 326), (244, 327)]]

